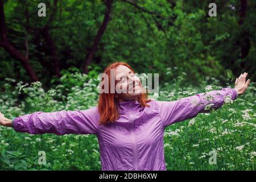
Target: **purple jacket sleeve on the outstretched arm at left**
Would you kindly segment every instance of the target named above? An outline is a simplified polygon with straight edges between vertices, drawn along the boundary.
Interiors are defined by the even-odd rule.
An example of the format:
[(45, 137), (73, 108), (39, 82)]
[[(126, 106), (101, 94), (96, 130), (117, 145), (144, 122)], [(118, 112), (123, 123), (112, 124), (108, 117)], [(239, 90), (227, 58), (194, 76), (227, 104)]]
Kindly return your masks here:
[(97, 134), (99, 118), (97, 107), (49, 113), (36, 111), (14, 118), (13, 128), (30, 134)]

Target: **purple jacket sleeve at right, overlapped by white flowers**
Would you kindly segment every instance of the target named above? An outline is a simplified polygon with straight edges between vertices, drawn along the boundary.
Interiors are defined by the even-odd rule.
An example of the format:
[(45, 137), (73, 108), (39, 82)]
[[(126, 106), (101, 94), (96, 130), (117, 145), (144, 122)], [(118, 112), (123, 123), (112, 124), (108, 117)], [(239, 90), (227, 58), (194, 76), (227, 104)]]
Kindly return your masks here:
[(181, 98), (177, 101), (156, 101), (156, 106), (164, 127), (172, 125), (175, 122), (184, 121), (196, 117), (199, 113), (207, 113), (205, 106), (212, 106), (212, 109), (218, 109), (224, 104), (225, 100), (236, 100), (238, 94), (233, 88), (224, 88), (206, 93), (199, 93), (195, 96)]

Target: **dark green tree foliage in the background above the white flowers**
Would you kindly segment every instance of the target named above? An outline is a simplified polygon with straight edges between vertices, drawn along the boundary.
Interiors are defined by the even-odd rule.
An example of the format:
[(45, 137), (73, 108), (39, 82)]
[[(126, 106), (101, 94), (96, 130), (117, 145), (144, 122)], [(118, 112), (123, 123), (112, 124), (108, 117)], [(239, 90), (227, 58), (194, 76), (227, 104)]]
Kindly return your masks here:
[[(5, 15), (10, 42), (24, 53), (24, 36), (27, 35), (30, 63), (40, 81), (50, 87), (53, 75), (51, 50), (40, 29), (35, 27), (54, 27), (50, 28), (49, 34), (64, 70), (62, 74), (71, 67), (81, 71), (106, 7), (103, 1), (61, 1), (52, 13), (53, 1), (44, 2), (48, 13), (45, 18), (37, 16), (37, 1), (7, 1)], [(208, 16), (208, 3), (201, 0), (138, 1), (139, 7), (153, 12), (150, 14), (129, 3), (114, 1), (108, 27), (89, 66), (89, 76), (96, 76), (110, 62), (125, 61), (140, 73), (160, 73), (163, 82), (168, 81), (163, 75), (166, 67), (177, 67), (175, 76), (187, 73), (184, 81), (193, 84), (202, 76), (216, 77), (224, 83), (226, 69), (233, 75), (249, 72), (254, 80), (255, 2), (247, 3), (243, 24), (238, 23), (240, 1), (216, 1), (217, 17)], [(30, 14), (30, 31), (25, 26), (26, 10)], [(250, 45), (248, 55), (241, 58), (241, 46), (245, 44), (243, 37)], [(1, 78), (30, 80), (23, 65), (2, 48), (0, 57), (3, 60), (1, 68), (7, 68), (1, 71)], [(19, 74), (17, 70), (20, 70)]]

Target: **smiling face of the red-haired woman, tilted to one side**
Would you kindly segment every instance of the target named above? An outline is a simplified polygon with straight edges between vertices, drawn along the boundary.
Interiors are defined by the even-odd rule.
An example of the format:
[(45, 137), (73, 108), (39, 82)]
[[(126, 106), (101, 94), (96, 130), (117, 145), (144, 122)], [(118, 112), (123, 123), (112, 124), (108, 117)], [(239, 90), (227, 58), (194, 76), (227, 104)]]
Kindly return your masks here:
[[(141, 95), (141, 81), (131, 69), (124, 65), (115, 68), (115, 90), (117, 92), (118, 102), (137, 100)], [(121, 92), (121, 93), (120, 93)]]

